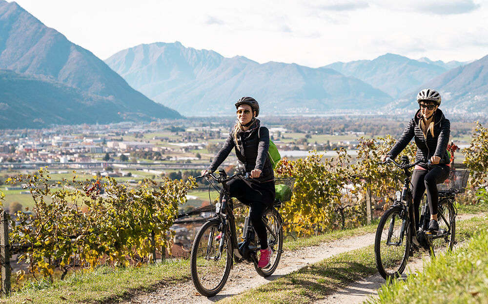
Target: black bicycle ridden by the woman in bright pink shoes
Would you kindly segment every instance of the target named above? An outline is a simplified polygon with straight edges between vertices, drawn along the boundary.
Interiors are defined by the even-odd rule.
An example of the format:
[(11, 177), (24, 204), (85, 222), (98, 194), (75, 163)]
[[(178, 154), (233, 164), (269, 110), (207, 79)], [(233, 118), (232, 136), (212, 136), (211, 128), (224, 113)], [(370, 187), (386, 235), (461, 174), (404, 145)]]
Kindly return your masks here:
[(204, 177), (220, 193), (220, 198), (215, 203), (213, 217), (202, 225), (195, 236), (190, 253), (190, 268), (191, 279), (198, 292), (212, 297), (224, 288), (234, 263), (253, 263), (256, 272), (262, 277), (268, 277), (276, 270), (283, 253), (283, 218), (277, 209), (283, 202), (275, 201), (264, 212), (268, 246), (273, 250), (273, 256), (267, 268), (258, 268), (259, 241), (249, 221), (249, 214), (244, 221), (243, 242), (238, 243), (234, 204), (226, 186), (227, 182), (235, 178), (246, 180), (247, 174), (236, 173), (227, 177), (225, 171), (220, 170), (218, 176), (207, 174)]

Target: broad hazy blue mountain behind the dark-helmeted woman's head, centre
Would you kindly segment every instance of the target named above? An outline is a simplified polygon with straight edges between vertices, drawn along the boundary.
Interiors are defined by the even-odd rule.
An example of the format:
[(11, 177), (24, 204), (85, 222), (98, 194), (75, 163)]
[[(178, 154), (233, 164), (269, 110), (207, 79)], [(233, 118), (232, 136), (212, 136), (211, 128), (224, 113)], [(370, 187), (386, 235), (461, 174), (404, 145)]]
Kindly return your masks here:
[(230, 114), (234, 101), (246, 95), (272, 114), (369, 109), (392, 100), (331, 69), (224, 58), (180, 42), (141, 44), (105, 62), (134, 88), (184, 115)]

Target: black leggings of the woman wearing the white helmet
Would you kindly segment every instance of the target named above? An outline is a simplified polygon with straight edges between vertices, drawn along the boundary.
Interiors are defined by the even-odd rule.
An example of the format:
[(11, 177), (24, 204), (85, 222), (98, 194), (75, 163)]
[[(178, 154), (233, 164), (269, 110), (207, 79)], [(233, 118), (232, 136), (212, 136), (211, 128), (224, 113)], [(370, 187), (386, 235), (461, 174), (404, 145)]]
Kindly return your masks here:
[(427, 202), (430, 214), (437, 214), (437, 204), (439, 203), (439, 192), (437, 191), (437, 184), (444, 182), (449, 177), (449, 166), (436, 165), (431, 169), (413, 170), (412, 174), (412, 195), (415, 215), (415, 228), (419, 230), (420, 212), (419, 206), (422, 196), (427, 189)]

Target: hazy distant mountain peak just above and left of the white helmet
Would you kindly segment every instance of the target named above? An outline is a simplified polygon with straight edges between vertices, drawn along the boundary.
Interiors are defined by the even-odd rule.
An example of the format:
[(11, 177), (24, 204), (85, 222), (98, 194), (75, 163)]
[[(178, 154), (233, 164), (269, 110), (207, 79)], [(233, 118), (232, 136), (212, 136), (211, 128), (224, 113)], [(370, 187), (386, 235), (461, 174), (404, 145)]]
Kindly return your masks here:
[(439, 63), (416, 61), (395, 54), (374, 60), (335, 62), (325, 68), (360, 79), (395, 98), (447, 71), (447, 67)]

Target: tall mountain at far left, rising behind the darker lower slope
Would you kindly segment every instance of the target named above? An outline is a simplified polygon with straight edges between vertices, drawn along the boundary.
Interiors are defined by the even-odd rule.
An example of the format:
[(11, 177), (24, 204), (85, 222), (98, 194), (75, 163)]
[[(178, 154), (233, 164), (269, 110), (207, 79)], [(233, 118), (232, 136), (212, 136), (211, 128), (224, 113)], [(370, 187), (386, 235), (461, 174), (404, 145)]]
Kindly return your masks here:
[[(74, 110), (73, 115), (79, 115), (76, 121), (83, 120), (86, 115), (82, 109), (83, 106), (102, 100), (103, 108), (108, 111), (105, 114), (114, 122), (123, 120), (123, 114), (141, 120), (180, 117), (176, 111), (155, 103), (134, 90), (90, 51), (68, 41), (55, 29), (45, 26), (16, 2), (4, 0), (0, 0), (0, 69), (25, 75), (42, 76), (42, 80), (38, 80), (44, 81), (43, 84), (46, 87), (53, 88), (56, 83), (54, 86), (60, 94), (61, 91), (67, 90), (61, 94), (63, 98), (76, 96), (74, 99), (63, 99), (56, 103), (60, 113), (67, 110), (69, 104), (70, 109)], [(13, 76), (9, 72), (2, 73), (4, 76), (8, 75), (2, 79), (5, 85), (8, 85), (6, 81), (9, 79), (15, 79), (17, 86), (28, 82), (26, 81), (29, 78), (27, 76), (22, 78), (18, 75)], [(74, 93), (72, 88), (79, 89), (79, 91), (75, 90), (77, 93)], [(4, 95), (0, 102), (8, 104), (11, 109), (17, 108), (17, 105), (13, 103), (19, 100), (20, 95), (23, 96), (24, 102), (34, 102), (35, 97), (43, 95), (42, 91), (32, 92), (34, 95), (27, 98), (25, 92), (31, 92), (31, 90), (21, 87), (18, 87), (16, 91), (9, 91), (14, 95), (10, 98), (6, 98)], [(53, 100), (53, 97), (49, 96), (41, 96), (41, 98), (45, 98), (45, 101)], [(54, 98), (60, 99), (61, 97), (54, 96)], [(32, 108), (37, 107), (34, 104), (31, 106)], [(96, 108), (94, 106), (95, 111)], [(119, 115), (119, 112), (122, 112), (122, 115)], [(88, 113), (88, 115), (91, 114)], [(91, 118), (86, 118), (86, 120), (92, 121)], [(42, 121), (49, 122), (46, 119), (42, 119)], [(9, 126), (21, 127), (30, 125), (30, 123), (30, 121), (19, 121), (19, 123), (9, 124)]]

